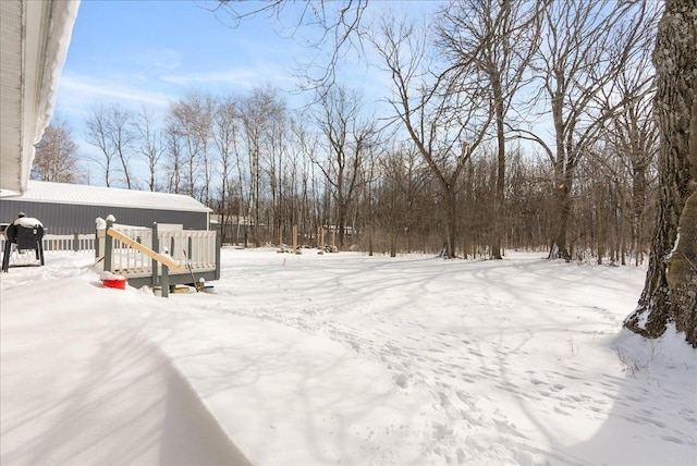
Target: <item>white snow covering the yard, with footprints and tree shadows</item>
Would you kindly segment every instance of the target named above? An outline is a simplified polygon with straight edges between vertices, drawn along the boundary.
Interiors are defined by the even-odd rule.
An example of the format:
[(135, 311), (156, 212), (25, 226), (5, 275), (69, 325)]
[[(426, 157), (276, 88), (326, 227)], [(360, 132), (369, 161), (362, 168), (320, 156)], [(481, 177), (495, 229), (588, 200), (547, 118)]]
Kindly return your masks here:
[(645, 269), (222, 250), (215, 294), (0, 277), (0, 463), (697, 463), (697, 351)]

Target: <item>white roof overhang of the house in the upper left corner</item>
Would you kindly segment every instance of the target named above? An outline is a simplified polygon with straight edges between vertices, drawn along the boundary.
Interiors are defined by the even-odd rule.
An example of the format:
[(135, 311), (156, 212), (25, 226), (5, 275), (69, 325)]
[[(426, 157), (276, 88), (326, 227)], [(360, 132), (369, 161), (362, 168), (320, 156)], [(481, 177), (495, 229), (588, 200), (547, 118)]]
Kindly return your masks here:
[(53, 114), (80, 0), (0, 1), (0, 189), (24, 193)]

